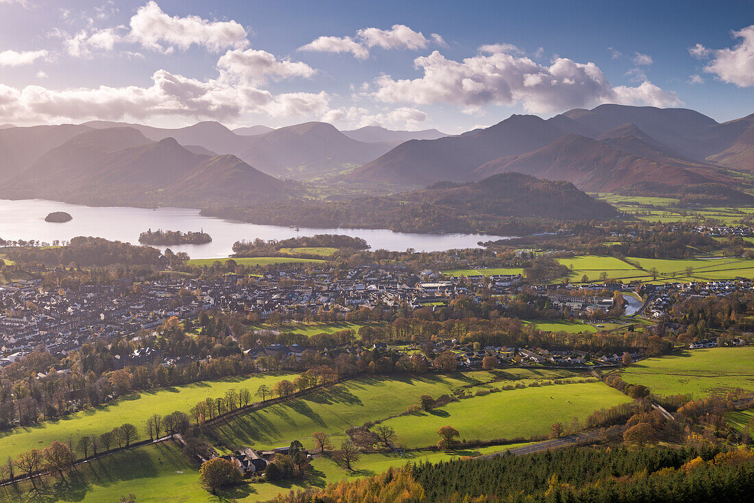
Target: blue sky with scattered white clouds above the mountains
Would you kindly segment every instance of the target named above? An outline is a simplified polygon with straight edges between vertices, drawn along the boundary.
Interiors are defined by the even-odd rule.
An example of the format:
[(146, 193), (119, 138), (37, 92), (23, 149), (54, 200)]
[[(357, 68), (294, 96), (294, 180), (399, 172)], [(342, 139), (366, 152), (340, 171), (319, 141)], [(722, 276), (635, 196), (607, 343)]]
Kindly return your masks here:
[(600, 103), (754, 112), (754, 0), (0, 0), (0, 124), (461, 133)]

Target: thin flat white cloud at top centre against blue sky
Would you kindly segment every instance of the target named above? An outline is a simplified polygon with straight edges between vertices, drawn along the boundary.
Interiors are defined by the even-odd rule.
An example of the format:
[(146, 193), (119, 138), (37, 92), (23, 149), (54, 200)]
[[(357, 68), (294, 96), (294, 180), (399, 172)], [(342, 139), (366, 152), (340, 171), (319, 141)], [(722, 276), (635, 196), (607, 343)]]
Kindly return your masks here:
[(369, 57), (369, 49), (379, 47), (383, 49), (408, 49), (418, 51), (428, 48), (430, 44), (445, 46), (443, 37), (432, 33), (429, 38), (421, 32), (415, 32), (403, 24), (394, 24), (391, 29), (363, 28), (356, 32), (356, 37), (321, 36), (299, 51), (351, 53), (360, 60)]

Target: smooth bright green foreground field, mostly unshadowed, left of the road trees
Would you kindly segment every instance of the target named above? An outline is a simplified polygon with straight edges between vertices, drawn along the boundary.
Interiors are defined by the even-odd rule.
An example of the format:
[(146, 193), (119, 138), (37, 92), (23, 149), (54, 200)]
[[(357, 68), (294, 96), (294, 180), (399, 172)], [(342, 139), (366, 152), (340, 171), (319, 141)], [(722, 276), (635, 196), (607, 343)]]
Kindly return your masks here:
[(395, 429), (400, 445), (415, 448), (437, 443), (436, 431), (445, 425), (467, 440), (529, 437), (547, 434), (556, 422), (581, 422), (596, 409), (630, 401), (602, 382), (550, 385), (467, 398), (382, 424)]

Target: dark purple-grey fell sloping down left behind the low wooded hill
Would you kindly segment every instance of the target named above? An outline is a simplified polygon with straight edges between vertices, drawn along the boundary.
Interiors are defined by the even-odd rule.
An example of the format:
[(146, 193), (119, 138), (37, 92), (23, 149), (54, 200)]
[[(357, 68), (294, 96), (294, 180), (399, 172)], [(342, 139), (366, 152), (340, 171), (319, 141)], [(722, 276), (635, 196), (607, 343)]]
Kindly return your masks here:
[(364, 164), (351, 179), (429, 185), (475, 179), (474, 169), (495, 158), (539, 149), (566, 134), (535, 115), (512, 115), (487, 127), (438, 140), (410, 140)]

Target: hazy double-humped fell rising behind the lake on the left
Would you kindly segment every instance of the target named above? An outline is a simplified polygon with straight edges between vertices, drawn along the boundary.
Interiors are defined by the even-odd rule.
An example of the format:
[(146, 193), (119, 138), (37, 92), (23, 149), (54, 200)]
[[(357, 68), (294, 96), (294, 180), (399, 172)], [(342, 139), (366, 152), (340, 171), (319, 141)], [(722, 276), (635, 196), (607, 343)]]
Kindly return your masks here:
[(285, 184), (232, 155), (202, 155), (173, 138), (150, 142), (128, 127), (93, 130), (53, 149), (4, 186), (14, 197), (94, 204), (241, 203)]

